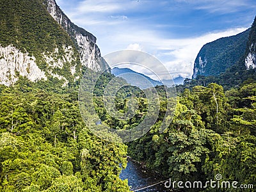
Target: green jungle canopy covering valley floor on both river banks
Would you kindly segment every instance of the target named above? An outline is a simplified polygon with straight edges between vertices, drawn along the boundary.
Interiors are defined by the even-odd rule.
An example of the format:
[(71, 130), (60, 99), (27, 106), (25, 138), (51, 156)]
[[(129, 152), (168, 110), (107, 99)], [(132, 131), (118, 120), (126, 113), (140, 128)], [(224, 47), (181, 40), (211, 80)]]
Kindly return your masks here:
[[(147, 115), (147, 98), (132, 86), (120, 89), (116, 108), (127, 111), (132, 97), (138, 109), (131, 119), (116, 120), (102, 104), (102, 89), (112, 78), (104, 74), (97, 82), (95, 110), (102, 124), (132, 129)], [(223, 180), (256, 184), (256, 81), (226, 92), (214, 83), (185, 88), (162, 133), (167, 99), (164, 87), (157, 86), (161, 107), (156, 124), (124, 144), (100, 140), (84, 125), (78, 83), (62, 88), (53, 80), (31, 83), (20, 77), (14, 86), (0, 88), (1, 191), (129, 191), (127, 180), (118, 178), (127, 155), (166, 178), (205, 181), (220, 173)]]

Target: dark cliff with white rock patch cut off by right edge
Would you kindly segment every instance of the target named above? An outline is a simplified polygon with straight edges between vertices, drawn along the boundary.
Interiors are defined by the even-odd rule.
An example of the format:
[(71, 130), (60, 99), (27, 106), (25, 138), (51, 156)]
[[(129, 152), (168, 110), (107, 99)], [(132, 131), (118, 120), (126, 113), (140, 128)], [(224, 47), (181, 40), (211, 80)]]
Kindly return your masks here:
[(256, 68), (256, 17), (248, 38), (244, 63), (247, 69)]

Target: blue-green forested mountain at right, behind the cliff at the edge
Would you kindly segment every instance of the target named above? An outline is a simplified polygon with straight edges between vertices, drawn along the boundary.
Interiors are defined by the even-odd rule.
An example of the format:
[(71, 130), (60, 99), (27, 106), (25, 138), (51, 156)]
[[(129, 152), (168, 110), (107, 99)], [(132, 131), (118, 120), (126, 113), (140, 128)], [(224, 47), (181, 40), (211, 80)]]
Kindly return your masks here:
[(196, 56), (193, 79), (198, 75), (218, 76), (244, 56), (250, 29), (238, 35), (205, 44)]

